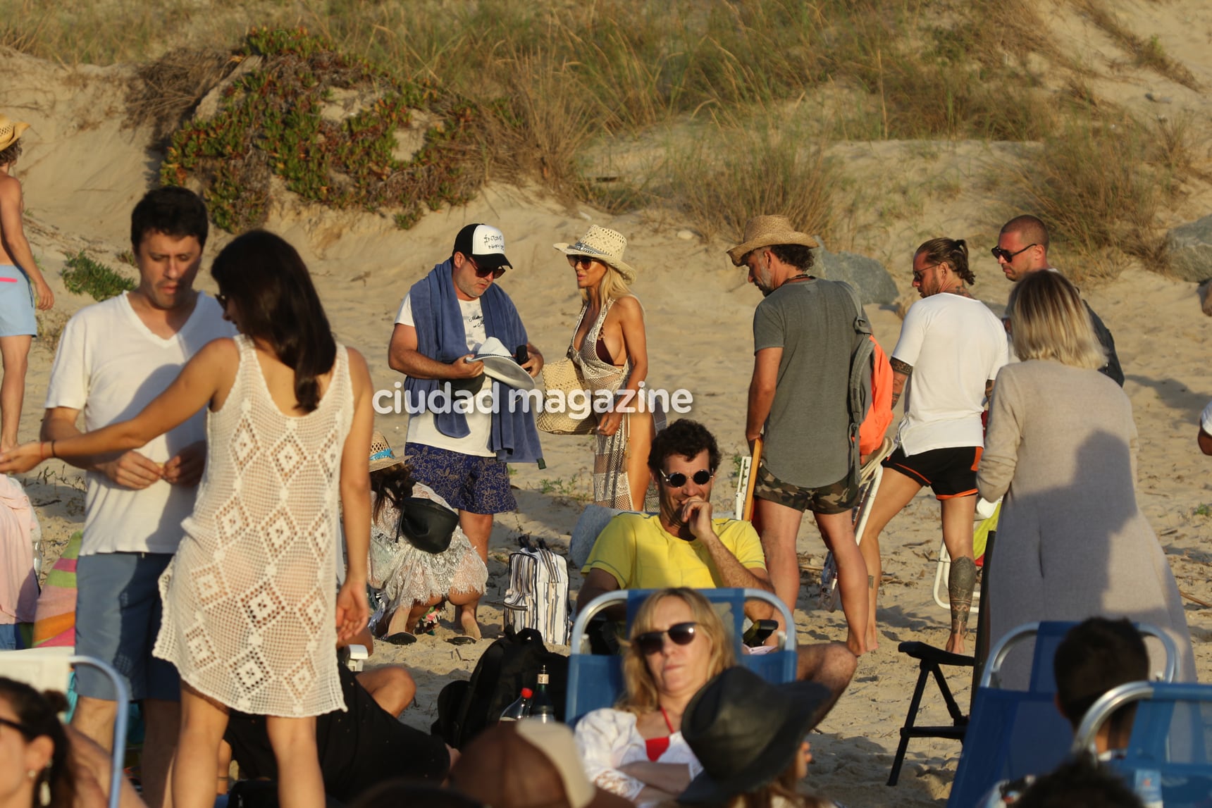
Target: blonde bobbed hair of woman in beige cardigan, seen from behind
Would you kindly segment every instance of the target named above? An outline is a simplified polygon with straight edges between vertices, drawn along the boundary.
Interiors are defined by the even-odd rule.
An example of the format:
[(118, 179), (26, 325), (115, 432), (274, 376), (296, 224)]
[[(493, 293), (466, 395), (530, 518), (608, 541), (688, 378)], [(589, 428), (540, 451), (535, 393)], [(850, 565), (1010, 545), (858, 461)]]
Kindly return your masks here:
[(1077, 287), (1060, 273), (1039, 270), (1010, 293), (1010, 333), (1018, 359), (1051, 359), (1097, 371), (1107, 365)]

